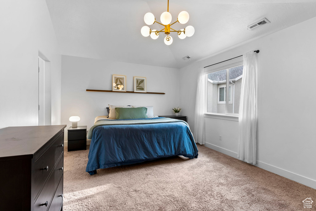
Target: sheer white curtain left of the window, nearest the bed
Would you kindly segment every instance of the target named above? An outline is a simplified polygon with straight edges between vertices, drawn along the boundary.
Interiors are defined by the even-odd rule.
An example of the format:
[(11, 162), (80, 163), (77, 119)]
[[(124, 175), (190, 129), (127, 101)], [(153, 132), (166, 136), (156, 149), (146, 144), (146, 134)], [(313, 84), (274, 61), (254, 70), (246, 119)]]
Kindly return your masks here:
[(206, 77), (204, 68), (198, 69), (197, 76), (197, 95), (195, 100), (194, 115), (194, 140), (196, 143), (204, 144), (204, 112), (205, 112), (205, 93), (206, 93)]

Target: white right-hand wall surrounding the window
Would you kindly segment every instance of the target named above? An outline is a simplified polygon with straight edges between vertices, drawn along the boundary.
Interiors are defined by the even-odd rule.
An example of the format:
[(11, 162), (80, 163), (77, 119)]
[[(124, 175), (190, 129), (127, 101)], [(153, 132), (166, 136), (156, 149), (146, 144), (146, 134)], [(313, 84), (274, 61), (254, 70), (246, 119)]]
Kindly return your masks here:
[[(316, 188), (316, 28), (310, 26), (315, 25), (316, 18), (312, 18), (180, 69), (180, 106), (193, 129), (197, 69), (259, 49), (256, 55), (258, 166), (313, 188)], [(206, 146), (235, 156), (238, 122), (204, 120)]]

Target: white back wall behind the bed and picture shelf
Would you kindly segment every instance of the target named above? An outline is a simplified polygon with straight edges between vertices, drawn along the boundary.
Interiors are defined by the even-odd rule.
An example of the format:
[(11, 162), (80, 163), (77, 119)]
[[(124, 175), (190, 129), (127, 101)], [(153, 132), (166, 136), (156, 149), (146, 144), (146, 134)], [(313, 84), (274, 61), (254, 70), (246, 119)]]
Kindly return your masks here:
[[(86, 91), (112, 90), (112, 74), (126, 75), (127, 91), (134, 90), (133, 76), (140, 76), (147, 79), (147, 92), (166, 94)], [(179, 106), (179, 69), (62, 55), (62, 124), (68, 128), (69, 117), (79, 116), (78, 125), (89, 129), (95, 117), (107, 115), (108, 104), (153, 105), (155, 115), (173, 115)]]

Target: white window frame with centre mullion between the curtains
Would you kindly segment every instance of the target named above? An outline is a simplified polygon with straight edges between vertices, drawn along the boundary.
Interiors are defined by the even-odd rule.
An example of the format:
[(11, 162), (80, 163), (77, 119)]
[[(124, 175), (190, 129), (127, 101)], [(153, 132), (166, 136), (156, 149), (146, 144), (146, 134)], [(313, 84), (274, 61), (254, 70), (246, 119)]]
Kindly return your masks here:
[[(216, 72), (216, 71), (220, 71), (220, 70), (224, 70), (226, 69), (226, 87), (230, 87), (231, 86), (231, 94), (233, 93), (233, 90), (232, 88), (232, 84), (229, 84), (229, 71), (228, 69), (230, 68), (234, 68), (234, 67), (238, 67), (238, 66), (241, 66), (243, 65), (244, 62), (243, 62), (243, 57), (237, 57), (237, 58), (234, 58), (234, 59), (231, 59), (229, 61), (226, 61), (226, 62), (222, 62), (222, 63), (219, 63), (219, 64), (216, 64), (216, 65), (213, 65), (213, 66), (210, 66), (210, 67), (206, 67), (204, 68), (204, 74), (209, 74), (209, 73), (213, 73), (213, 72)], [(207, 81), (208, 81), (208, 78), (206, 76), (206, 83), (205, 83), (205, 103), (207, 104)], [(229, 92), (229, 88), (226, 89), (226, 92), (225, 92), (225, 97), (226, 97), (226, 101), (225, 104), (225, 114), (222, 114), (222, 113), (211, 113), (211, 112), (207, 112), (207, 105), (205, 106), (205, 111), (204, 111), (204, 117), (210, 117), (210, 116), (228, 116), (228, 117), (239, 117), (239, 114), (235, 114), (235, 113), (228, 113), (228, 105), (230, 104), (229, 101), (228, 103), (226, 103), (228, 101), (228, 92)], [(218, 94), (219, 95), (219, 94)], [(217, 101), (219, 102), (219, 96), (217, 97)], [(231, 100), (232, 99), (232, 96), (230, 98)], [(222, 101), (221, 101), (222, 102)]]

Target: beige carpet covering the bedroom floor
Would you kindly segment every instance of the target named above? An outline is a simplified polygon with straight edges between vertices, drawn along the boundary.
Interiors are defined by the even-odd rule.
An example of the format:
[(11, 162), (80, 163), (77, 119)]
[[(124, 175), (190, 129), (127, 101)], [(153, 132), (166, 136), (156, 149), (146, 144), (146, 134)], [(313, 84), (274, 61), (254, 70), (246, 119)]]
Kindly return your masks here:
[[(85, 172), (88, 150), (64, 157), (64, 210), (316, 210), (316, 190), (198, 145), (172, 157)], [(311, 197), (312, 209), (303, 208)]]

